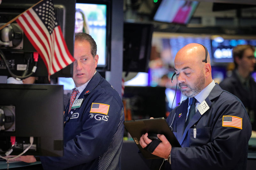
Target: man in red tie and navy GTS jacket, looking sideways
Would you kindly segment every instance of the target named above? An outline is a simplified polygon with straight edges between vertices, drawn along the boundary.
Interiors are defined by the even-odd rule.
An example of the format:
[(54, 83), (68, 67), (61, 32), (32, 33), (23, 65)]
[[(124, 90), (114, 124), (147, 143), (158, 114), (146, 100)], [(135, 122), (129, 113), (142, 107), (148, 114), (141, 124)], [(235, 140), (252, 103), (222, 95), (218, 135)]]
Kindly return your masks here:
[(40, 156), (44, 169), (121, 169), (124, 106), (118, 92), (96, 71), (96, 51), (89, 34), (76, 33), (73, 80), (78, 94), (64, 113), (64, 156)]

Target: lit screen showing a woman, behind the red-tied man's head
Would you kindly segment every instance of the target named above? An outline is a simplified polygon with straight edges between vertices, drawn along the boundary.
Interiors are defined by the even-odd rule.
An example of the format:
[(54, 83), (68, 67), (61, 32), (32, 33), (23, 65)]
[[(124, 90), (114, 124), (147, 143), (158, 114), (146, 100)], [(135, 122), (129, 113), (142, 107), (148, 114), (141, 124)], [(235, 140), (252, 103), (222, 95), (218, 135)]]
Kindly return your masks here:
[(76, 1), (75, 33), (92, 36), (97, 44), (99, 61), (97, 70), (109, 70), (110, 14), (106, 1)]

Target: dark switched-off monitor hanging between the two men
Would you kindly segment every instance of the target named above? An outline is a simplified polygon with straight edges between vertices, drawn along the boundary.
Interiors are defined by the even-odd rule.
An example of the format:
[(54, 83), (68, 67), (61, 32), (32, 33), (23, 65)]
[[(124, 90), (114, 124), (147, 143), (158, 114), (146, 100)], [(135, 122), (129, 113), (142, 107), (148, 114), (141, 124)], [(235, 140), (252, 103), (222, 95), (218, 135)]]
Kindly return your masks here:
[(152, 24), (124, 23), (123, 71), (148, 72)]

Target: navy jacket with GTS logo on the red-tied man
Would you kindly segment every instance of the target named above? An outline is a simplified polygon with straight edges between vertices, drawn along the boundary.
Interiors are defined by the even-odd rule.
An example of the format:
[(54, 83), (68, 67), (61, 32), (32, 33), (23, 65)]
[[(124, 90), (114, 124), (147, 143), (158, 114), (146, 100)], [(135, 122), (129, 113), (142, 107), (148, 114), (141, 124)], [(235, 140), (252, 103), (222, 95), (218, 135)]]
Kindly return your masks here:
[[(119, 94), (96, 72), (78, 99), (84, 99), (81, 107), (68, 116), (68, 103), (64, 114), (64, 156), (40, 157), (43, 168), (121, 169), (124, 106)], [(108, 113), (90, 113), (92, 103), (109, 105)]]

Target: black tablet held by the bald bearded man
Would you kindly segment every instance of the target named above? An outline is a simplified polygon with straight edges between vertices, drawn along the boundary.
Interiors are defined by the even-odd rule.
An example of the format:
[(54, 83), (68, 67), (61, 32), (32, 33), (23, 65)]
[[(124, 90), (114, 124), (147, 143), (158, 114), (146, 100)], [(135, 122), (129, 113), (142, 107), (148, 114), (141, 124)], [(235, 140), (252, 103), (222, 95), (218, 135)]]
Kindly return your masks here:
[(164, 117), (155, 119), (141, 119), (124, 121), (125, 129), (130, 133), (134, 142), (142, 152), (142, 155), (146, 159), (158, 159), (159, 157), (148, 152), (140, 146), (140, 137), (145, 133), (163, 134), (170, 142), (172, 147), (181, 147), (177, 138), (172, 133), (169, 125), (167, 124)]

